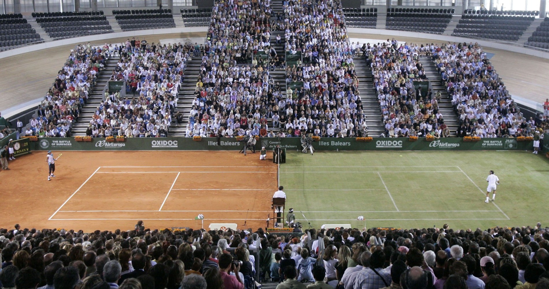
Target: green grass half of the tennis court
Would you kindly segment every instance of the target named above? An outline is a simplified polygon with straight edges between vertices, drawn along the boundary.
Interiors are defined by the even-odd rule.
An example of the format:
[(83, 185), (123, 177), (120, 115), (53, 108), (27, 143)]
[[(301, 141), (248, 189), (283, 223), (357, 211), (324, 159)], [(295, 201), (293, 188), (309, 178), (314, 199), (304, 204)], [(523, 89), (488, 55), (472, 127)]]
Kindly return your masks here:
[[(490, 170), (501, 184), (487, 204)], [(300, 211), (317, 229), (549, 224), (549, 161), (531, 152), (288, 152), (279, 178), (304, 229)]]

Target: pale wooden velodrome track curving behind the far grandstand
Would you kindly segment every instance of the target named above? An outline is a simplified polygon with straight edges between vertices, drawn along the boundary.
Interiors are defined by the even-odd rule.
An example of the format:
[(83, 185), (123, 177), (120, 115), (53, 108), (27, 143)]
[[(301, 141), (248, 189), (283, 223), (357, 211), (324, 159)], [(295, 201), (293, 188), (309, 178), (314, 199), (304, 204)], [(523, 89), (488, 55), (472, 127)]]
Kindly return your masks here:
[[(149, 43), (158, 43), (160, 39), (184, 39), (205, 37), (205, 35), (205, 32), (192, 32), (148, 35), (145, 38)], [(382, 40), (388, 36), (350, 33), (349, 37)], [(126, 38), (101, 40), (95, 44), (119, 43), (125, 41)], [(411, 37), (399, 37), (398, 40), (408, 43), (441, 42)], [(66, 45), (0, 59), (0, 112), (44, 96), (57, 72), (69, 57), (69, 51), (72, 48), (74, 45)], [(485, 47), (485, 51), (495, 53), (491, 61), (512, 95), (528, 98), (538, 103), (545, 101), (549, 90), (549, 84), (547, 84), (549, 59), (488, 47)]]

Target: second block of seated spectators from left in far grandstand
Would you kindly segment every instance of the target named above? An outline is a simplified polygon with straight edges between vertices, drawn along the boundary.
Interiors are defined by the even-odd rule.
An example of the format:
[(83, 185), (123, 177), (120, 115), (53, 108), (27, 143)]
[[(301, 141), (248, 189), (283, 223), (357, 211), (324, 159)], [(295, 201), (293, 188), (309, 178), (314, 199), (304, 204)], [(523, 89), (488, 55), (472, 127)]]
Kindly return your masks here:
[[(205, 46), (147, 43), (127, 40), (103, 49), (120, 57), (110, 80), (125, 81), (130, 92), (105, 92), (89, 121), (86, 135), (92, 137), (167, 136), (177, 108), (178, 92), (191, 53), (198, 56)], [(100, 48), (98, 48), (100, 49)], [(122, 88), (124, 89), (124, 88)]]

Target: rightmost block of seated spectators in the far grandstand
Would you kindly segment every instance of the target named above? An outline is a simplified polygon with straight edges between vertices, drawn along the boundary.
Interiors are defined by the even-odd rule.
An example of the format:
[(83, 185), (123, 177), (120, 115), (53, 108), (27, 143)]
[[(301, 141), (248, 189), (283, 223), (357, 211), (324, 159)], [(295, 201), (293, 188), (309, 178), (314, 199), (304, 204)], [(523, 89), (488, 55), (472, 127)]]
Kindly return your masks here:
[(478, 43), (435, 45), (433, 59), (459, 115), (458, 136), (534, 136), (543, 127), (526, 119)]

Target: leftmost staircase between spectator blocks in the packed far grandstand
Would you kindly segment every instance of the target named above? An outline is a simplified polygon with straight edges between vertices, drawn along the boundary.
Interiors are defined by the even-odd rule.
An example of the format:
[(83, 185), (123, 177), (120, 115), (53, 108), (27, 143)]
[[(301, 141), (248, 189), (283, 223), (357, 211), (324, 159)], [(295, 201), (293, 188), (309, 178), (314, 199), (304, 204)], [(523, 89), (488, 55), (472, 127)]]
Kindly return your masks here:
[(88, 95), (88, 101), (80, 111), (78, 121), (72, 124), (71, 136), (85, 136), (86, 129), (88, 128), (89, 121), (92, 120), (92, 116), (96, 113), (99, 104), (103, 101), (103, 89), (110, 79), (111, 73), (116, 68), (117, 58), (110, 58), (105, 63), (105, 69), (103, 69), (97, 76), (96, 85), (92, 88), (92, 91)]

